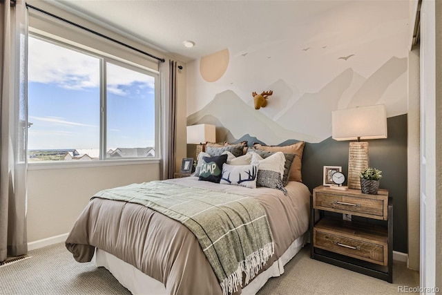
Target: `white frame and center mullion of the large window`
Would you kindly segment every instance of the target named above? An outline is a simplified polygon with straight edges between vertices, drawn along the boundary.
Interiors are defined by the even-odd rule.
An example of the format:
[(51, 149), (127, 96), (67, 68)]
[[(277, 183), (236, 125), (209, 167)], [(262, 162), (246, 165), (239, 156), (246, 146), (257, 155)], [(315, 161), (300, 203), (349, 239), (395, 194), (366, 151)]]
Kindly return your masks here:
[[(87, 48), (86, 46), (81, 46), (81, 44), (76, 44), (73, 41), (63, 41), (61, 38), (56, 36), (46, 36), (39, 32), (33, 32), (30, 30), (29, 37), (39, 39), (41, 41), (60, 46), (69, 50), (74, 50), (78, 53), (88, 55), (90, 57), (95, 57), (99, 59), (99, 160), (91, 161), (39, 161), (39, 162), (28, 162), (29, 170), (39, 170), (39, 169), (66, 169), (66, 168), (77, 168), (77, 167), (93, 167), (93, 166), (115, 166), (115, 165), (131, 165), (131, 164), (154, 164), (160, 163), (161, 160), (161, 149), (160, 149), (160, 132), (162, 130), (162, 123), (160, 120), (160, 72), (158, 70), (153, 70), (146, 66), (140, 64), (135, 64), (133, 61), (128, 61), (119, 57), (108, 55), (107, 53), (102, 53), (99, 50), (93, 48)], [(106, 140), (107, 140), (107, 84), (106, 84), (106, 64), (111, 63), (117, 66), (121, 66), (128, 70), (134, 70), (138, 73), (148, 75), (155, 80), (155, 156), (150, 158), (106, 158)], [(27, 114), (29, 115), (29, 114)], [(28, 149), (26, 149), (26, 158), (28, 159)]]

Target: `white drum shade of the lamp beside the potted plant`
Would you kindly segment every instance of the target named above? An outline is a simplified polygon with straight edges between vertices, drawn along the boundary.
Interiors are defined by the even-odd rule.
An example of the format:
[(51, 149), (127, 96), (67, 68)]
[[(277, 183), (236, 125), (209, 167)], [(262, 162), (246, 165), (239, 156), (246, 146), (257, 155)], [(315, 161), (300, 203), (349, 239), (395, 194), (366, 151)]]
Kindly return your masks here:
[(334, 140), (387, 138), (387, 112), (383, 104), (332, 112)]

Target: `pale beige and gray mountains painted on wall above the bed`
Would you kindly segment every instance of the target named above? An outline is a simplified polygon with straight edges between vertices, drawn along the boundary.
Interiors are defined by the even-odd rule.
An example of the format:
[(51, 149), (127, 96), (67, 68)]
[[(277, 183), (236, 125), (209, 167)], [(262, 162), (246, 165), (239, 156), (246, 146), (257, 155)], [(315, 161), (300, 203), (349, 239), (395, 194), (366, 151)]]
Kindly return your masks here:
[(387, 114), (396, 110), (392, 115), (401, 115), (397, 110), (403, 109), (406, 102), (406, 70), (407, 59), (397, 57), (367, 79), (347, 68), (317, 93), (300, 96), (296, 87), (278, 79), (268, 87), (275, 96), (269, 97), (268, 105), (258, 111), (253, 108), (253, 101), (246, 103), (233, 91), (224, 91), (189, 115), (187, 124), (214, 124), (218, 126), (218, 139), (236, 139), (249, 133), (270, 144), (287, 139), (320, 142), (332, 135), (334, 110), (382, 103)]

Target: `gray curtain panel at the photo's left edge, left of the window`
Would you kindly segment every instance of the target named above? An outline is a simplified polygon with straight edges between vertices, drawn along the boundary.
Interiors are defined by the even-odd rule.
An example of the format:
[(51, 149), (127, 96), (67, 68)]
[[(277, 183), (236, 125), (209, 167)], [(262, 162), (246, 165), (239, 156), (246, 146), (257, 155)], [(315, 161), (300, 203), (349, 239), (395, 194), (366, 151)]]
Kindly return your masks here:
[(26, 3), (0, 1), (0, 261), (28, 251), (26, 140), (28, 12)]

